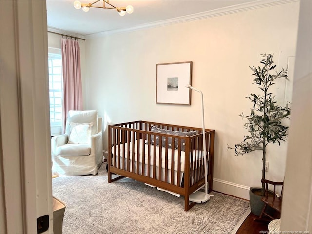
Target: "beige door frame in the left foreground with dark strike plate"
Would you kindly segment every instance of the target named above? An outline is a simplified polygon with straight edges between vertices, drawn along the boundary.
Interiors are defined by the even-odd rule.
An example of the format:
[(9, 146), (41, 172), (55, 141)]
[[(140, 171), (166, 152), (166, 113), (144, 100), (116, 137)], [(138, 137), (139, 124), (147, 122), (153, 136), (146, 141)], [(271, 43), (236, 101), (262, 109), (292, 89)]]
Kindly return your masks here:
[(53, 233), (45, 1), (0, 1), (1, 233)]

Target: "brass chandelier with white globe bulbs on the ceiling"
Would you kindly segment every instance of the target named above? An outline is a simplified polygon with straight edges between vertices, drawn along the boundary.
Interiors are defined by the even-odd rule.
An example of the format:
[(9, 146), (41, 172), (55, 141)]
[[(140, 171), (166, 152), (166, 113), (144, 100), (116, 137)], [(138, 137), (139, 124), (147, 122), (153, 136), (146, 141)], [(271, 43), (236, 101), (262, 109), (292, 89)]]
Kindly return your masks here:
[[(95, 6), (94, 4), (103, 1), (103, 6)], [(105, 3), (108, 5), (105, 5)], [(74, 7), (76, 9), (82, 9), (83, 11), (87, 12), (90, 10), (90, 7), (95, 7), (95, 8), (102, 8), (102, 9), (113, 9), (116, 10), (120, 16), (124, 16), (127, 13), (131, 14), (133, 12), (133, 6), (129, 5), (127, 7), (115, 7), (111, 3), (109, 3), (109, 0), (97, 0), (92, 3), (81, 3), (80, 1), (74, 1)]]

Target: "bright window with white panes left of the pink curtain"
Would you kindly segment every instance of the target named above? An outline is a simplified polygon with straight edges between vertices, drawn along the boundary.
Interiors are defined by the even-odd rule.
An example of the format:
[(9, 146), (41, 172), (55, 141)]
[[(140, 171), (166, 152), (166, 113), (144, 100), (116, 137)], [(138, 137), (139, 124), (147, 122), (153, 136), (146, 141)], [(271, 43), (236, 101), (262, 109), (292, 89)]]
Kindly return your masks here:
[(61, 133), (63, 119), (62, 56), (49, 53), (49, 99), (51, 135)]

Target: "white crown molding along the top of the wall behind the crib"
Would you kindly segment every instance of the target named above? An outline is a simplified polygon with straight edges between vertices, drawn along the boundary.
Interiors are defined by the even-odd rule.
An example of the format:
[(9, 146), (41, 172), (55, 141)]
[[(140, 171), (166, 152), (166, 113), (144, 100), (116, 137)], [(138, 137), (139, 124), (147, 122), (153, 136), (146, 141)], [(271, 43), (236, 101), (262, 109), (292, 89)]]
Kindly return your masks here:
[(160, 21), (156, 21), (152, 23), (140, 24), (135, 27), (88, 34), (88, 35), (85, 35), (85, 38), (92, 39), (92, 38), (99, 38), (99, 37), (103, 37), (103, 36), (107, 36), (111, 34), (132, 32), (132, 31), (155, 28), (155, 27), (162, 27), (162, 26), (167, 26), (167, 25), (176, 24), (176, 23), (201, 20), (201, 19), (206, 19), (206, 18), (211, 18), (211, 17), (216, 17), (216, 16), (233, 14), (233, 13), (241, 12), (241, 11), (248, 11), (248, 10), (253, 10), (257, 8), (270, 7), (274, 5), (296, 2), (296, 1), (299, 1), (299, 0), (274, 0), (274, 1), (273, 0), (255, 0), (252, 2), (246, 2), (246, 3), (234, 5), (234, 6), (223, 7), (223, 8), (219, 8), (219, 9), (215, 9), (211, 11), (205, 11), (205, 12), (200, 12), (200, 13), (196, 13), (192, 15), (176, 17), (176, 18), (172, 18), (169, 20), (160, 20)]

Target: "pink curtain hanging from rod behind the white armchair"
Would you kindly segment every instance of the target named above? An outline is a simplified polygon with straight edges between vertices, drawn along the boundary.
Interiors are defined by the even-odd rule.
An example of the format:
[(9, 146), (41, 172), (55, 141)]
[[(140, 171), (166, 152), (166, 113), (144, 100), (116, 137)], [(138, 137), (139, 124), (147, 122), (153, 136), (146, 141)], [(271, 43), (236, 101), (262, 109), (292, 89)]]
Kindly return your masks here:
[(63, 130), (69, 110), (82, 110), (80, 47), (77, 40), (61, 39), (63, 61)]

